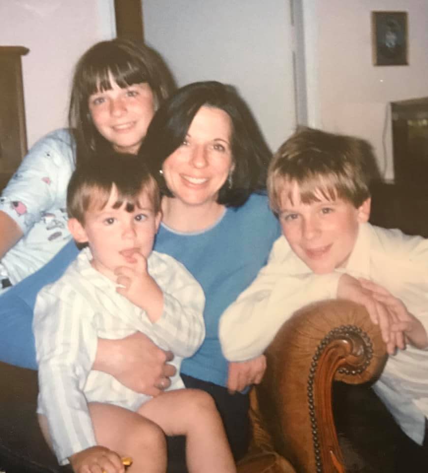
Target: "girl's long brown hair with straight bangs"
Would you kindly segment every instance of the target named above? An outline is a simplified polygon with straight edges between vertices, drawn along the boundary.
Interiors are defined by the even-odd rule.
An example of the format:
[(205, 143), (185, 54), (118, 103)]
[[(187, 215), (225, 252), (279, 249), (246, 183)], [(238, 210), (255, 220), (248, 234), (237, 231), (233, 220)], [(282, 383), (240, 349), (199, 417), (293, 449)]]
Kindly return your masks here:
[(118, 38), (94, 44), (78, 61), (71, 88), (68, 122), (76, 141), (77, 163), (111, 150), (93, 125), (88, 104), (92, 94), (112, 88), (110, 77), (122, 88), (149, 84), (156, 109), (175, 89), (165, 63), (148, 46)]

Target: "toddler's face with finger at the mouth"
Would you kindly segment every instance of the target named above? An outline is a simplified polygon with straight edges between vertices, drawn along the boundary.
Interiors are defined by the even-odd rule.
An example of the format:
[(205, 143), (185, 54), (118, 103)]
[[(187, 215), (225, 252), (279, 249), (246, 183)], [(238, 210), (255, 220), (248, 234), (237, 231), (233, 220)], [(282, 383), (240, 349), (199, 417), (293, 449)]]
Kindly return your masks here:
[(114, 270), (120, 266), (132, 267), (136, 262), (135, 253), (148, 258), (161, 217), (160, 212), (154, 212), (147, 192), (143, 191), (140, 196), (140, 207), (135, 205), (131, 212), (126, 210), (126, 202), (113, 208), (117, 197), (113, 187), (105, 207), (90, 208), (85, 213), (84, 226), (74, 221), (80, 233), (76, 235), (76, 231), (72, 231), (76, 241), (89, 242), (92, 266), (114, 281)]

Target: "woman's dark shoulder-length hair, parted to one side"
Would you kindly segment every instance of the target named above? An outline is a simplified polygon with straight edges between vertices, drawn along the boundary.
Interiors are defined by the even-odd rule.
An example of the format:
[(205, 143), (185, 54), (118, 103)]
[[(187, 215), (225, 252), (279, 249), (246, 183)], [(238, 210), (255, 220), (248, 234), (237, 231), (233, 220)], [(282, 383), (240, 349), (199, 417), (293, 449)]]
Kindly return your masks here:
[[(232, 123), (231, 148), (234, 169), (232, 185), (226, 181), (217, 202), (238, 207), (252, 192), (266, 188), (271, 152), (247, 105), (235, 88), (220, 82), (195, 82), (179, 89), (155, 113), (142, 149), (161, 192), (173, 197), (159, 172), (164, 161), (182, 143), (197, 111), (202, 106), (226, 112)], [(143, 151), (142, 151), (143, 152)]]

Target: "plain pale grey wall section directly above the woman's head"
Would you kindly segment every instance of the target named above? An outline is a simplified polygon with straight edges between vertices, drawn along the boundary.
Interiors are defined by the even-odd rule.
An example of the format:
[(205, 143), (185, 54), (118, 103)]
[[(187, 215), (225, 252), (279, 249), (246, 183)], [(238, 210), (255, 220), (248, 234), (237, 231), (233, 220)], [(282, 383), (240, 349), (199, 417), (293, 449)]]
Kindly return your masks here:
[(146, 40), (178, 84), (235, 85), (272, 150), (296, 125), (290, 13), (290, 0), (143, 0)]

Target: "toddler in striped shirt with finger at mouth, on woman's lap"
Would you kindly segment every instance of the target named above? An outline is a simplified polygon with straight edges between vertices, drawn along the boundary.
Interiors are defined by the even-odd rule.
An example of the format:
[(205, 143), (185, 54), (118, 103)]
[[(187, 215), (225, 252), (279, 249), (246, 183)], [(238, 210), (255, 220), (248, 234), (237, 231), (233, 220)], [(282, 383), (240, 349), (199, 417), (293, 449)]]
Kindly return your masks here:
[[(155, 180), (130, 155), (79, 166), (67, 210), (71, 234), (88, 247), (40, 291), (33, 322), (39, 421), (59, 462), (76, 473), (119, 473), (120, 456), (130, 456), (129, 472), (165, 472), (165, 435), (185, 435), (189, 472), (235, 472), (214, 401), (182, 389), (181, 360), (205, 335), (205, 298), (183, 265), (152, 251)], [(175, 354), (177, 374), (156, 398), (92, 370), (98, 338), (136, 331)]]

